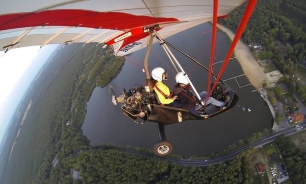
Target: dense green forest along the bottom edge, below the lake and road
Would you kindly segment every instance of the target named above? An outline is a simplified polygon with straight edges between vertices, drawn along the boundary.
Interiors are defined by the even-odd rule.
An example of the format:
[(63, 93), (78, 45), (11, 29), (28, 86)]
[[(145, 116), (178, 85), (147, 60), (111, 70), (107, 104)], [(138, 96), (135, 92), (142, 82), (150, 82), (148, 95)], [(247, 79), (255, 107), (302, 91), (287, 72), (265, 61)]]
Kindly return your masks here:
[[(249, 153), (210, 167), (182, 167), (116, 149), (82, 151), (67, 159), (81, 172), (80, 183), (252, 183)], [(63, 183), (72, 183), (71, 175)]]

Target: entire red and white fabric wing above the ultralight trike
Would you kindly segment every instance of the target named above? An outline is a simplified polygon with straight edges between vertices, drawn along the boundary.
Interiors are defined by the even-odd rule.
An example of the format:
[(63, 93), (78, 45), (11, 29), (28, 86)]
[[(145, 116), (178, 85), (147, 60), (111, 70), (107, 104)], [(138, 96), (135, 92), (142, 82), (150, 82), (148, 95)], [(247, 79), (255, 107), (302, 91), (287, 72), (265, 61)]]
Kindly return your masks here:
[[(218, 16), (246, 0), (220, 0)], [(160, 25), (162, 38), (212, 20), (212, 0), (32, 0), (3, 1), (0, 48), (96, 42), (117, 56), (146, 47), (144, 27)], [(155, 41), (157, 41), (155, 39)]]

